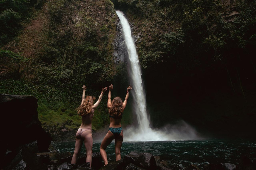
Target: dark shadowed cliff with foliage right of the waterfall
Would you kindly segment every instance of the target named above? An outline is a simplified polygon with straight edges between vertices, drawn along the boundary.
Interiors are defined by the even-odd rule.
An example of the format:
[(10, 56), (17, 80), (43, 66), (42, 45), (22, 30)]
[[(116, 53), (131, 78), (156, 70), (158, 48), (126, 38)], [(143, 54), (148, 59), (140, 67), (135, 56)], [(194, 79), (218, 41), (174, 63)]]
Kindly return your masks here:
[(112, 2), (140, 37), (151, 127), (255, 138), (255, 1)]

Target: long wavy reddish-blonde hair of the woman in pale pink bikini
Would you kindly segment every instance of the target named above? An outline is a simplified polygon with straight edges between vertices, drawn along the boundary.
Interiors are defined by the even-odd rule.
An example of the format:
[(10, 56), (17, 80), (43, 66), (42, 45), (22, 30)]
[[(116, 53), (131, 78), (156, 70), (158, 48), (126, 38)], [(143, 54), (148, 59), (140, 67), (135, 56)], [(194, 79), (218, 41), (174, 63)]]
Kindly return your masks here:
[(95, 97), (86, 96), (84, 102), (76, 109), (79, 116), (84, 116), (91, 113), (93, 101)]

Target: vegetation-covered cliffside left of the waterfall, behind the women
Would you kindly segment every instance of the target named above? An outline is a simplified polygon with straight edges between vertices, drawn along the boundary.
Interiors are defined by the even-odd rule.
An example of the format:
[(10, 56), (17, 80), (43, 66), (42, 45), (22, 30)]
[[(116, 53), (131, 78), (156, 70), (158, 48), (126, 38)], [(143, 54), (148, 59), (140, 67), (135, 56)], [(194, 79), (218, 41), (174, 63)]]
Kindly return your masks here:
[[(24, 19), (32, 15), (32, 6), (38, 4), (31, 3), (5, 1), (5, 6), (1, 6), (1, 16), (10, 13), (17, 20), (10, 16), (1, 18), (6, 22), (1, 25), (6, 32), (1, 37), (0, 93), (35, 96), (39, 120), (45, 128), (65, 126), (73, 130), (81, 124), (75, 109), (81, 102), (82, 85), (87, 85), (86, 95), (95, 96), (97, 100), (101, 88), (108, 86), (115, 74), (112, 42), (117, 18), (113, 3), (46, 1), (42, 10), (35, 11), (37, 22), (24, 23)], [(23, 8), (25, 6), (27, 8)], [(45, 15), (41, 15), (43, 13)], [(18, 25), (10, 25), (9, 20)], [(21, 22), (25, 30), (19, 35)], [(6, 46), (6, 42), (10, 45)], [(21, 53), (12, 52), (17, 49)], [(109, 123), (106, 103), (104, 95), (95, 111), (94, 130)]]

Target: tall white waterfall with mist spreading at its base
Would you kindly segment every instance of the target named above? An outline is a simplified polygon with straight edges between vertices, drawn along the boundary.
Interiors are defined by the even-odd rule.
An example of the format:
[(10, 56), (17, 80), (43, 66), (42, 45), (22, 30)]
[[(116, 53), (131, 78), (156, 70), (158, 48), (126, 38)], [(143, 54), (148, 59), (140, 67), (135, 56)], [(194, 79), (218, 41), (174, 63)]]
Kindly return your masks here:
[[(141, 79), (141, 68), (136, 51), (136, 46), (132, 38), (131, 28), (128, 20), (121, 11), (116, 11), (122, 28), (125, 46), (130, 61), (130, 78), (133, 85), (132, 96), (135, 101), (133, 108), (138, 119), (138, 128), (128, 128), (124, 130), (126, 141), (163, 141), (175, 139), (195, 139), (196, 131), (184, 121), (179, 126), (169, 126), (161, 130), (153, 130), (149, 127), (149, 120), (146, 112), (146, 97)], [(167, 129), (168, 128), (168, 129)]]

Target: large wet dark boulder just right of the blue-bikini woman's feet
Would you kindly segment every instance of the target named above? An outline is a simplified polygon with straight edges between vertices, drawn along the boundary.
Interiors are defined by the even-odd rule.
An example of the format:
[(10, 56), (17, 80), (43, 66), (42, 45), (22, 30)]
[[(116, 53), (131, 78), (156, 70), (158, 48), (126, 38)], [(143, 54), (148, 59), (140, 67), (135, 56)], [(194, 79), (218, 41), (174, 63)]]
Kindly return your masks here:
[(133, 163), (144, 169), (156, 169), (156, 161), (151, 153), (131, 152), (125, 155), (123, 162), (124, 164)]

